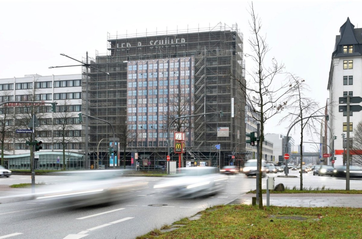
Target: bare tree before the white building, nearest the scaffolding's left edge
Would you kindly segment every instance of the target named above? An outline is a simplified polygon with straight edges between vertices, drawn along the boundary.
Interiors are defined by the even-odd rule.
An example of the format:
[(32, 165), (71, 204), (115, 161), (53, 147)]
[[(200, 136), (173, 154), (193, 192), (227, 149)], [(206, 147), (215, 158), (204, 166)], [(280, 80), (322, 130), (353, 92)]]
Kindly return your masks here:
[(70, 144), (79, 142), (81, 136), (74, 119), (77, 114), (69, 110), (70, 103), (67, 100), (58, 105), (59, 112), (54, 113), (54, 143), (60, 143), (63, 149), (63, 168), (66, 170), (66, 149)]

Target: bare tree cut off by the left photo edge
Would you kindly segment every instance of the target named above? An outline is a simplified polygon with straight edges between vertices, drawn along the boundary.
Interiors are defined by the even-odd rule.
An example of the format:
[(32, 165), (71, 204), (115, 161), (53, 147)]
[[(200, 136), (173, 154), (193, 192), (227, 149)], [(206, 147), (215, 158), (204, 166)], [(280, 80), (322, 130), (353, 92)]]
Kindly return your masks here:
[[(11, 101), (11, 92), (2, 91), (0, 95), (1, 101)], [(4, 104), (0, 108), (0, 143), (1, 143), (1, 165), (4, 166), (4, 150), (5, 143), (10, 142), (9, 140), (13, 137), (14, 133), (14, 108), (8, 104)]]

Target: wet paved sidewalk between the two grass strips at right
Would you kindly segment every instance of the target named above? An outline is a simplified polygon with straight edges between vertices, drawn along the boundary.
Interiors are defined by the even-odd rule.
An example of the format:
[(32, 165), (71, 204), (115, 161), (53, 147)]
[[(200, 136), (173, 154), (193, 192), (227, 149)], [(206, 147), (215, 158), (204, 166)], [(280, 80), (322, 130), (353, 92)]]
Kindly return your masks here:
[[(241, 195), (229, 204), (252, 203), (255, 194)], [(266, 194), (263, 194), (263, 205), (266, 205)], [(270, 206), (290, 207), (362, 207), (362, 194), (341, 193), (271, 193)]]

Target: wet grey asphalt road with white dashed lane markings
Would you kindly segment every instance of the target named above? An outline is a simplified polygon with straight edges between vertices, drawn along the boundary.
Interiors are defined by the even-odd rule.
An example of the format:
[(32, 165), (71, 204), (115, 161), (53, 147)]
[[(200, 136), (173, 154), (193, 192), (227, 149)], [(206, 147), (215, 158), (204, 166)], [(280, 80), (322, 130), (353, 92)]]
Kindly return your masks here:
[[(282, 173), (279, 173), (282, 174)], [(299, 175), (291, 172), (291, 175)], [(279, 178), (275, 176), (275, 185), (299, 187), (300, 178)], [(37, 182), (55, 184), (68, 176), (37, 176)], [(167, 178), (137, 177), (147, 183), (146, 186), (131, 189), (127, 197), (113, 205), (75, 208), (62, 204), (39, 203), (34, 200), (7, 202), (0, 198), (0, 238), (135, 238), (166, 224), (191, 217), (199, 211), (214, 205), (234, 201), (247, 191), (256, 188), (255, 177), (243, 174), (228, 176), (223, 190), (213, 197), (198, 199), (173, 199), (167, 197), (164, 190), (155, 190), (153, 185), (167, 181)], [(262, 184), (265, 188), (265, 180)], [(13, 175), (0, 178), (0, 185), (30, 182), (29, 176)], [(312, 173), (303, 174), (303, 186), (309, 188), (344, 189), (345, 180), (334, 177), (318, 177)], [(3, 186), (4, 187), (4, 186)], [(360, 180), (351, 180), (351, 189), (362, 189)], [(28, 189), (27, 189), (28, 190)], [(29, 190), (28, 190), (29, 191)], [(6, 195), (24, 193), (24, 190), (3, 191)]]

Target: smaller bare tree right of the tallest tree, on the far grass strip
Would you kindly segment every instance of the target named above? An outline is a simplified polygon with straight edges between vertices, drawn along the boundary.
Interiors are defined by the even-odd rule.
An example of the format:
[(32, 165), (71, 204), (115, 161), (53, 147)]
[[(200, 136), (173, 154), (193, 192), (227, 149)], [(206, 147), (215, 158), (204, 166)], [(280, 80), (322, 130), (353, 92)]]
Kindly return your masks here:
[[(305, 83), (304, 79), (290, 74), (290, 80), (294, 86), (294, 94), (289, 95), (287, 101), (289, 102), (289, 109), (291, 112), (280, 120), (282, 122), (290, 122), (288, 129), (291, 125), (300, 121), (300, 190), (303, 190), (303, 135), (312, 135), (316, 131), (317, 125), (316, 118), (308, 118), (303, 121), (303, 118), (311, 116), (319, 112), (321, 108), (319, 104), (312, 98), (306, 96), (306, 92), (310, 92), (309, 86)], [(287, 166), (287, 165), (286, 165)]]

